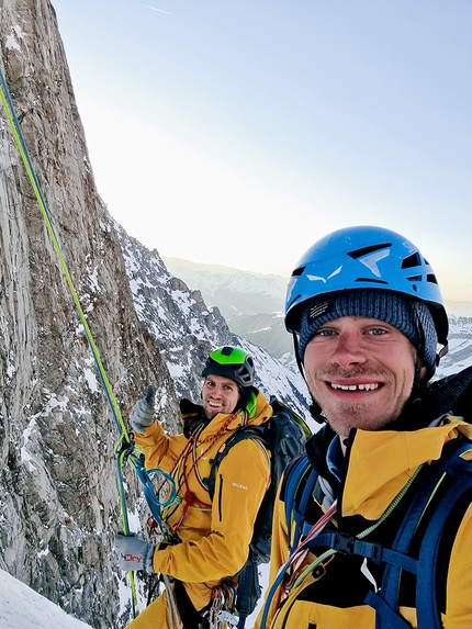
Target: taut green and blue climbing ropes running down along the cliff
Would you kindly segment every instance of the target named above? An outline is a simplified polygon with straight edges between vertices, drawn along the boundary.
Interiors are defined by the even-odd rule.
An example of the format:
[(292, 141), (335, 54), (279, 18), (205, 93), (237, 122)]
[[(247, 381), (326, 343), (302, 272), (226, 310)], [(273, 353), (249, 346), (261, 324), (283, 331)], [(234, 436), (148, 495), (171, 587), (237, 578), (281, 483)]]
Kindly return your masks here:
[[(47, 231), (49, 233), (54, 249), (55, 249), (56, 255), (57, 255), (57, 258), (59, 260), (60, 268), (61, 268), (63, 273), (67, 280), (67, 284), (69, 287), (70, 294), (71, 294), (74, 303), (76, 305), (76, 310), (79, 314), (80, 322), (83, 326), (83, 330), (85, 330), (87, 340), (88, 340), (89, 346), (90, 346), (90, 350), (92, 352), (92, 356), (93, 356), (93, 359), (94, 359), (94, 362), (97, 366), (97, 371), (98, 371), (100, 380), (102, 382), (103, 390), (105, 392), (105, 395), (106, 395), (106, 398), (108, 398), (114, 422), (116, 424), (116, 428), (117, 428), (119, 434), (120, 434), (119, 440), (115, 443), (114, 453), (116, 457), (117, 485), (119, 485), (119, 494), (120, 494), (120, 508), (121, 508), (121, 515), (122, 515), (122, 527), (123, 527), (123, 532), (125, 535), (128, 535), (130, 533), (130, 524), (128, 524), (125, 488), (124, 488), (124, 482), (123, 482), (123, 464), (125, 462), (127, 462), (135, 470), (139, 481), (143, 484), (143, 491), (144, 491), (146, 502), (149, 506), (149, 510), (159, 524), (161, 523), (160, 508), (162, 508), (164, 506), (166, 506), (167, 504), (169, 504), (171, 501), (175, 499), (175, 488), (172, 486), (172, 479), (168, 474), (166, 474), (162, 470), (150, 470), (149, 471), (149, 470), (146, 470), (144, 468), (144, 457), (142, 454), (142, 451), (135, 446), (134, 440), (132, 439), (132, 436), (126, 430), (126, 426), (125, 426), (123, 418), (121, 416), (120, 408), (117, 406), (116, 400), (115, 400), (113, 391), (112, 391), (112, 386), (109, 382), (105, 370), (103, 368), (103, 363), (101, 361), (99, 350), (98, 350), (95, 342), (93, 340), (92, 334), (91, 334), (89, 325), (87, 323), (86, 315), (83, 313), (82, 306), (80, 304), (79, 297), (77, 295), (76, 289), (74, 287), (72, 280), (71, 280), (69, 271), (67, 269), (67, 265), (66, 265), (66, 261), (64, 259), (64, 256), (63, 256), (63, 252), (60, 249), (59, 240), (58, 240), (56, 232), (54, 229), (53, 221), (52, 221), (49, 211), (47, 209), (46, 202), (44, 200), (44, 195), (43, 195), (43, 192), (41, 190), (41, 186), (40, 186), (40, 182), (37, 180), (36, 172), (35, 172), (34, 166), (32, 164), (32, 160), (31, 160), (27, 147), (26, 147), (26, 143), (24, 141), (24, 136), (23, 136), (23, 133), (22, 133), (21, 127), (20, 127), (20, 123), (19, 123), (16, 114), (15, 114), (15, 110), (14, 110), (14, 105), (13, 105), (13, 102), (11, 99), (11, 94), (10, 94), (10, 91), (9, 91), (9, 88), (8, 88), (8, 85), (7, 85), (7, 81), (5, 81), (5, 78), (3, 76), (1, 68), (0, 68), (0, 100), (2, 102), (4, 112), (7, 114), (7, 120), (8, 120), (9, 126), (11, 128), (13, 138), (15, 141), (16, 147), (18, 147), (20, 156), (22, 158), (24, 168), (26, 170), (27, 177), (30, 179), (31, 186), (33, 188), (33, 191), (34, 191), (34, 194), (36, 196), (37, 203), (40, 205), (41, 212), (43, 214), (44, 221), (46, 223), (46, 227), (47, 227)], [(158, 499), (157, 494), (154, 490), (153, 482), (151, 482), (151, 476), (154, 474), (162, 475), (164, 482), (168, 482), (169, 486), (171, 487), (170, 492), (169, 492), (169, 496), (164, 503)], [(133, 609), (133, 616), (135, 617), (136, 616), (136, 585), (135, 585), (133, 572), (130, 572), (130, 582), (131, 582), (131, 588), (132, 588), (132, 609)]]

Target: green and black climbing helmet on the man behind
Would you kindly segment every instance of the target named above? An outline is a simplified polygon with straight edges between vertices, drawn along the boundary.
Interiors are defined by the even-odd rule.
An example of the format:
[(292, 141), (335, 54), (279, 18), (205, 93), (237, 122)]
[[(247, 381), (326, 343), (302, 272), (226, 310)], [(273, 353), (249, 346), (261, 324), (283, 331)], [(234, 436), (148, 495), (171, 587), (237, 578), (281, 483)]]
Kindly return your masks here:
[(205, 375), (221, 375), (234, 380), (239, 386), (254, 385), (254, 360), (240, 347), (225, 345), (211, 352), (202, 371)]

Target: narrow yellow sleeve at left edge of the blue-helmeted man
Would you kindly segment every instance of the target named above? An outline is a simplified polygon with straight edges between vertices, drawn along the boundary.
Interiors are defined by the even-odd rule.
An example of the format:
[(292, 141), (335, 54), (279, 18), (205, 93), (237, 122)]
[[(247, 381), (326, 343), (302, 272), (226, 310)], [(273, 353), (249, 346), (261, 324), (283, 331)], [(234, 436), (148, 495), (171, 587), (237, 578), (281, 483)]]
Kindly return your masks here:
[[(282, 481), (281, 481), (282, 484)], [(280, 486), (281, 486), (280, 484)], [(272, 520), (272, 543), (270, 547), (270, 571), (269, 583), (265, 595), (265, 604), (257, 617), (254, 629), (259, 629), (262, 620), (262, 615), (266, 605), (270, 605), (270, 610), (267, 616), (266, 627), (269, 628), (272, 624), (273, 616), (277, 611), (276, 600), (267, 600), (267, 595), (276, 581), (277, 574), (282, 565), (289, 560), (289, 542), (288, 542), (288, 528), (285, 521), (285, 506), (284, 502), (280, 499), (280, 486), (278, 491), (278, 498), (273, 506), (273, 520)]]

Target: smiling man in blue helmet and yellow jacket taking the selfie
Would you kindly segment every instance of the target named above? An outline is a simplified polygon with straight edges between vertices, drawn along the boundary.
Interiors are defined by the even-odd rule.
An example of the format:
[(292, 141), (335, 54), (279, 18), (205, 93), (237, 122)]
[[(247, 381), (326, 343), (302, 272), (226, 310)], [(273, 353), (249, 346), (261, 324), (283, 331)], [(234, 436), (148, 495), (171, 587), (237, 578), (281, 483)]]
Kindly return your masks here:
[(430, 384), (431, 267), (400, 234), (340, 229), (293, 271), (285, 325), (323, 426), (285, 473), (258, 629), (472, 627), (472, 426), (451, 413), (471, 375)]

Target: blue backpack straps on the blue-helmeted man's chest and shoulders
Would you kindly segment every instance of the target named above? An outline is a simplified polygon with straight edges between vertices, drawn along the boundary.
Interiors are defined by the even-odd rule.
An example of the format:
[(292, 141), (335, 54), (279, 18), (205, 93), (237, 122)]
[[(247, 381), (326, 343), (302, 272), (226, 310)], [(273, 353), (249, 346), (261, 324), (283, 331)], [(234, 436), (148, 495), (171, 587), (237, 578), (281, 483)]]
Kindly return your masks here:
[[(420, 484), (402, 520), (396, 539), (391, 549), (379, 543), (362, 540), (342, 531), (325, 529), (306, 543), (306, 548), (330, 548), (342, 554), (367, 558), (374, 563), (385, 563), (382, 585), (378, 593), (370, 591), (364, 603), (377, 610), (375, 629), (411, 629), (411, 625), (398, 614), (398, 591), (402, 571), (416, 575), (416, 610), (418, 629), (441, 629), (438, 605), (438, 583), (446, 581), (443, 571), (438, 571), (440, 546), (445, 527), (453, 514), (459, 526), (472, 495), (472, 461), (461, 458), (470, 451), (472, 443), (463, 439), (453, 439), (443, 448), (443, 456), (424, 470)], [(308, 488), (313, 491), (315, 473), (310, 463), (299, 458), (290, 467), (284, 481), (285, 517), (289, 526), (292, 517), (299, 535), (303, 533), (304, 518), (302, 501), (308, 499)], [(307, 482), (300, 493), (304, 474)], [(443, 479), (447, 479), (443, 480)], [(442, 490), (438, 485), (445, 483)], [(437, 498), (435, 498), (435, 495)], [(311, 495), (311, 492), (310, 492)], [(430, 505), (429, 503), (434, 504)], [(463, 504), (462, 504), (463, 503)], [(459, 517), (454, 507), (459, 505)], [(427, 510), (428, 508), (428, 510)], [(426, 515), (425, 515), (426, 513)], [(424, 523), (424, 516), (429, 518)], [(300, 521), (296, 521), (297, 518)], [(417, 559), (411, 557), (412, 541), (418, 526), (424, 526)], [(456, 529), (457, 530), (457, 527)], [(296, 540), (295, 540), (296, 543)], [(289, 537), (290, 544), (290, 537)], [(290, 548), (290, 546), (289, 546)], [(445, 583), (446, 586), (446, 583)]]

